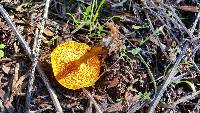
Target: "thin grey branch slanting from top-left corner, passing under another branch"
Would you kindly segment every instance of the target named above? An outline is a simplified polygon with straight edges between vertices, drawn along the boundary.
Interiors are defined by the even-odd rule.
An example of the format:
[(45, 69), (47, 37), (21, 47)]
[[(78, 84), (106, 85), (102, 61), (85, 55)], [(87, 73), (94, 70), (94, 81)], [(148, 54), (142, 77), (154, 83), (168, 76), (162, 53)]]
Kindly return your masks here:
[[(15, 27), (14, 23), (12, 22), (11, 18), (9, 17), (8, 13), (6, 12), (6, 10), (3, 8), (3, 6), (0, 4), (0, 12), (3, 15), (3, 17), (5, 18), (5, 20), (7, 21), (7, 23), (9, 24), (9, 26), (11, 27), (11, 29), (13, 30), (13, 32), (15, 33), (18, 41), (20, 42), (20, 45), (23, 47), (24, 51), (27, 53), (27, 55), (31, 57), (31, 49), (28, 47), (28, 44), (26, 43), (26, 41), (24, 40), (24, 38), (22, 37), (22, 35), (19, 33), (19, 31), (17, 30), (17, 28)], [(58, 101), (58, 98), (54, 92), (54, 90), (52, 89), (51, 85), (49, 84), (48, 79), (46, 78), (45, 73), (43, 72), (41, 66), (39, 64), (37, 64), (36, 66), (37, 71), (39, 72), (42, 80), (44, 81), (51, 99), (53, 100), (53, 104), (57, 110), (57, 112), (59, 113), (63, 113), (63, 110), (61, 108), (61, 105)]]

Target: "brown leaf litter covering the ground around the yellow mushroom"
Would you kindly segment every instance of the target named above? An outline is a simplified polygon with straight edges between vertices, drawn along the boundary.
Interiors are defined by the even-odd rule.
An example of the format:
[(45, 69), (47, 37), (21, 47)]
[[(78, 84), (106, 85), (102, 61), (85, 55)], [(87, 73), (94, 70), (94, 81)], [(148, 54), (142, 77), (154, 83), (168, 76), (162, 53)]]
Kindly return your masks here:
[[(151, 107), (148, 98), (152, 99), (154, 96), (153, 86), (147, 76), (146, 67), (141, 63), (137, 55), (141, 54), (144, 57), (149, 69), (155, 75), (156, 81), (158, 81), (157, 85), (160, 86), (165, 81), (165, 75), (170, 72), (172, 69), (171, 66), (176, 62), (181, 53), (184, 39), (188, 37), (188, 34), (181, 27), (180, 21), (169, 10), (170, 8), (162, 3), (156, 2), (154, 4), (154, 1), (150, 3), (146, 0), (125, 0), (118, 3), (118, 1), (111, 0), (106, 2), (102, 9), (99, 10), (97, 19), (99, 24), (106, 23), (105, 28), (103, 27), (101, 31), (106, 33), (106, 36), (99, 37), (101, 35), (95, 35), (95, 37), (87, 39), (90, 37), (87, 26), (79, 29), (75, 34), (71, 34), (76, 26), (72, 24), (73, 21), (63, 11), (67, 9), (67, 13), (82, 12), (91, 3), (84, 0), (84, 2), (78, 1), (76, 3), (69, 1), (68, 5), (66, 5), (62, 1), (52, 1), (52, 7), (49, 12), (50, 19), (46, 20), (47, 27), (43, 37), (40, 63), (42, 64), (42, 69), (49, 75), (48, 79), (52, 82), (51, 85), (56, 90), (56, 95), (60, 100), (64, 112), (95, 112), (95, 108), (83, 92), (64, 89), (53, 78), (50, 61), (51, 51), (58, 44), (68, 40), (84, 42), (91, 46), (101, 45), (102, 40), (109, 42), (106, 44), (109, 47), (106, 48), (107, 52), (104, 53), (106, 54), (105, 58), (102, 58), (104, 60), (101, 67), (102, 75), (94, 86), (87, 88), (99, 106), (103, 108), (104, 112), (147, 112), (149, 107)], [(187, 29), (194, 25), (192, 21), (185, 22), (185, 20), (196, 18), (199, 8), (195, 5), (195, 2), (192, 4), (187, 1), (181, 1), (179, 4), (174, 4), (172, 1), (164, 2), (169, 6), (176, 6), (173, 8), (178, 9), (176, 11), (179, 13), (179, 18), (183, 21)], [(14, 15), (12, 16), (14, 22), (25, 36), (29, 46), (32, 47), (35, 30), (38, 28), (37, 25), (43, 12), (42, 2), (32, 1), (29, 4), (18, 1), (18, 5), (16, 5), (16, 2), (9, 3), (7, 0), (3, 0), (0, 3), (4, 4), (4, 7), (11, 15)], [(162, 6), (163, 12), (159, 7), (155, 6)], [(76, 15), (81, 16), (79, 13)], [(110, 20), (108, 15), (113, 17), (120, 15), (121, 20), (119, 18), (112, 18)], [(143, 23), (148, 23), (147, 25), (150, 27), (144, 27)], [(163, 26), (160, 33), (154, 33), (160, 26)], [(154, 28), (155, 30), (150, 30), (150, 28)], [(193, 35), (197, 36), (198, 29), (197, 27), (195, 29)], [(196, 32), (197, 34), (195, 34)], [(54, 36), (57, 38), (54, 38)], [(0, 100), (6, 111), (10, 113), (23, 112), (25, 92), (28, 84), (27, 77), (31, 62), (21, 47), (19, 47), (10, 27), (2, 17), (0, 18), (0, 39), (0, 44), (3, 43), (6, 45), (6, 48), (3, 49), (5, 55), (0, 59)], [(111, 41), (109, 41), (110, 39)], [(199, 91), (198, 44), (199, 40), (197, 38), (195, 42), (189, 45), (188, 50), (190, 51), (186, 54), (187, 58), (184, 59), (185, 62), (179, 64), (178, 73), (175, 76), (175, 78), (179, 77), (178, 80), (182, 80), (182, 83), (173, 82), (168, 86), (157, 106), (156, 112), (166, 112), (170, 106), (169, 108), (164, 106), (179, 100), (186, 94), (192, 93), (192, 91)], [(194, 51), (195, 46), (197, 48), (196, 51)], [(121, 51), (121, 48), (125, 51)], [(122, 52), (124, 52), (123, 56), (120, 56)], [(131, 59), (132, 62), (128, 59)], [(192, 64), (193, 60), (195, 62)], [(191, 90), (188, 90), (188, 86), (189, 88), (191, 87)], [(49, 93), (38, 76), (36, 76), (32, 92), (32, 111), (55, 112)], [(183, 102), (176, 106), (174, 110), (176, 112), (198, 111), (198, 107), (196, 107), (198, 101), (195, 98)]]

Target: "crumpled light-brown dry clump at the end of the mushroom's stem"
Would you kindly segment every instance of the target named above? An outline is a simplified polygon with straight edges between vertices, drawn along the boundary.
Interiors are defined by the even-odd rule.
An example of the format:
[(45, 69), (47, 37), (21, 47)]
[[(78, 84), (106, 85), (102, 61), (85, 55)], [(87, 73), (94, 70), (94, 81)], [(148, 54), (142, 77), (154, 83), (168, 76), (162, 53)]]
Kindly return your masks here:
[(120, 37), (119, 26), (114, 24), (114, 22), (106, 23), (106, 26), (110, 29), (109, 36), (113, 38), (113, 43), (110, 45), (108, 54), (111, 55), (111, 52), (117, 52), (122, 46), (122, 40)]

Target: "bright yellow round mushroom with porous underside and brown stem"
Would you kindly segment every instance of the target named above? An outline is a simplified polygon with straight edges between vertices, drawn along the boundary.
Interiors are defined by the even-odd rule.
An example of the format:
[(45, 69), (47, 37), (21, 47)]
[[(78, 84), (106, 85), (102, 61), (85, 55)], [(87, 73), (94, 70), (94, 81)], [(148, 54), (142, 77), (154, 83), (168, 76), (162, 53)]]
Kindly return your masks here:
[(68, 89), (92, 86), (99, 78), (99, 46), (68, 41), (58, 45), (51, 53), (51, 63), (56, 80)]

